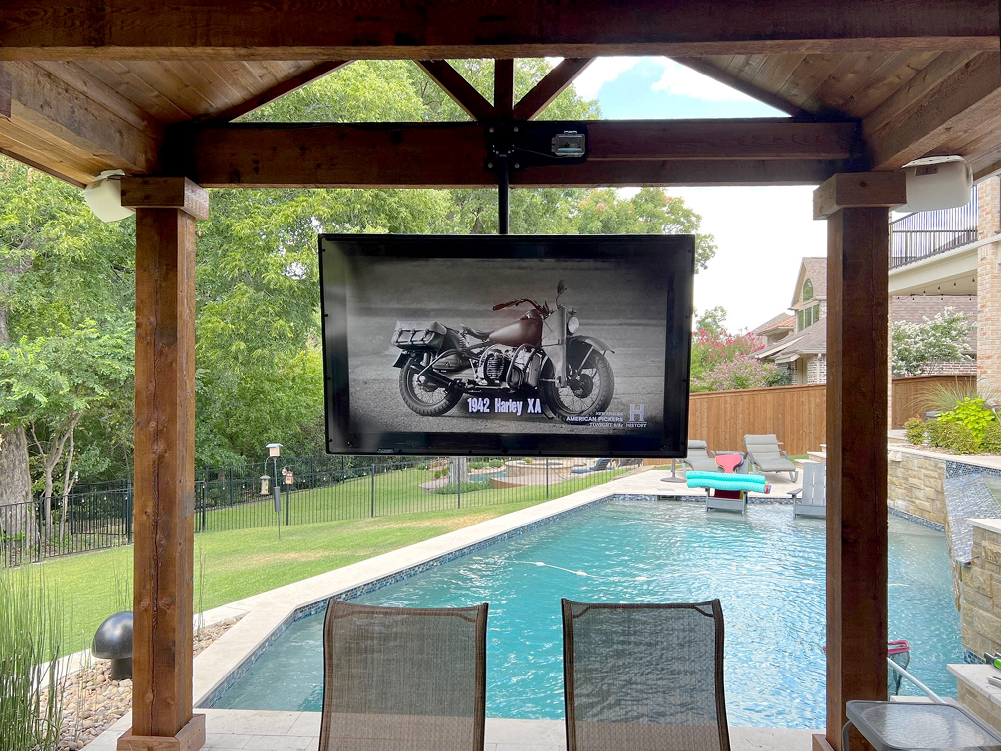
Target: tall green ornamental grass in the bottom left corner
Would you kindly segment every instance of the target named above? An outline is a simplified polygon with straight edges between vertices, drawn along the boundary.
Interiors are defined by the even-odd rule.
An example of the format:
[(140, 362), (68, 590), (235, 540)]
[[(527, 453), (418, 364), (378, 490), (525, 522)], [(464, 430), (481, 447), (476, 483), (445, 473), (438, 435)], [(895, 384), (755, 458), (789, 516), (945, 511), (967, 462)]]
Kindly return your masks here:
[(62, 724), (62, 637), (58, 595), (37, 570), (0, 572), (0, 747), (55, 751)]

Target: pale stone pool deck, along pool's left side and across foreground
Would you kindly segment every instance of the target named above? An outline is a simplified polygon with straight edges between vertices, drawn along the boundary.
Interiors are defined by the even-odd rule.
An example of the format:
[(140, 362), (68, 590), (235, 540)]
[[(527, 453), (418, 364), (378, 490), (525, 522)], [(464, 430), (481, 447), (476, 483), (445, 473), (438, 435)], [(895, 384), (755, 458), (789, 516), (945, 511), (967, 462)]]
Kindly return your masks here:
[[(546, 524), (562, 514), (609, 496), (647, 496), (664, 500), (679, 497), (697, 498), (703, 491), (689, 489), (685, 483), (665, 483), (670, 472), (649, 470), (631, 473), (609, 483), (588, 488), (570, 496), (490, 519), (455, 532), (400, 548), (356, 564), (304, 579), (268, 592), (244, 598), (205, 614), (210, 625), (225, 618), (243, 615), (242, 620), (194, 660), (193, 695), (195, 706), (210, 699), (227, 682), (227, 677), (248, 657), (254, 655), (284, 628), (300, 608), (325, 601), (330, 596), (369, 582), (394, 581), (415, 568), (433, 566), (450, 560), (458, 552), (491, 544), (498, 538), (520, 534), (527, 526)], [(789, 490), (799, 487), (788, 475), (768, 475), (772, 491), (751, 494), (761, 502), (789, 503)], [(680, 499), (679, 499), (680, 500)], [(726, 512), (714, 512), (716, 514)], [(790, 508), (789, 513), (792, 514)], [(195, 709), (206, 715), (205, 749), (256, 749), (259, 751), (304, 751), (315, 748), (319, 734), (319, 715), (315, 712), (269, 712), (258, 710)], [(130, 716), (111, 726), (86, 748), (88, 751), (113, 751), (119, 735), (129, 728)], [(811, 747), (816, 731), (783, 728), (732, 728), (735, 751), (774, 749), (785, 751)], [(566, 747), (564, 725), (560, 721), (488, 719), (487, 751), (554, 751)]]

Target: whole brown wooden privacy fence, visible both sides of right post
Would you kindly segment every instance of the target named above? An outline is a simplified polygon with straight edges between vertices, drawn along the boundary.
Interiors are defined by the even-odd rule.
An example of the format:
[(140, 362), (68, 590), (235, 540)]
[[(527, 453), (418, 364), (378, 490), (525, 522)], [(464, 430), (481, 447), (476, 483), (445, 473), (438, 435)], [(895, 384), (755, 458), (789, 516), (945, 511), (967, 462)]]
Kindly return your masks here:
[[(925, 412), (936, 387), (972, 389), (973, 376), (919, 376), (893, 380), (893, 428)], [(827, 386), (788, 386), (735, 392), (704, 392), (689, 400), (689, 438), (713, 451), (744, 450), (744, 436), (774, 433), (790, 455), (818, 451), (827, 443)]]

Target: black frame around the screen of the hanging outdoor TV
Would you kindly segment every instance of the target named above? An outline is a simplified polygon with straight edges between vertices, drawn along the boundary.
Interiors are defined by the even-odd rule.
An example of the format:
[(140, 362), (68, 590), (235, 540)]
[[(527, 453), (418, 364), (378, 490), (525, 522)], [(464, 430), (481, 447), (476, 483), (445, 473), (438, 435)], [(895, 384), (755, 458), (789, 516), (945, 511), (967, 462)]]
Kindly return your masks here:
[[(323, 386), (328, 454), (681, 459), (687, 454), (692, 282), (690, 234), (318, 236)], [(336, 250), (337, 252), (327, 252)], [(620, 258), (663, 264), (669, 284), (665, 340), (664, 428), (660, 437), (559, 433), (365, 432), (349, 425), (345, 256), (400, 258)], [(674, 416), (669, 419), (669, 416)], [(359, 430), (361, 429), (361, 430)], [(339, 437), (343, 437), (341, 440)]]

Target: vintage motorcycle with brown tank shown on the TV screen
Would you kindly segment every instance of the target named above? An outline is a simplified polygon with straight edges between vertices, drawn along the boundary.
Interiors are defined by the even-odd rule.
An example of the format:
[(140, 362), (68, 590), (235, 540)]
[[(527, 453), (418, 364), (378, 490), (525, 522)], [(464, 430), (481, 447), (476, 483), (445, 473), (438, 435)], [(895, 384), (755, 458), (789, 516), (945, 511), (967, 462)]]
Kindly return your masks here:
[(560, 304), (566, 289), (561, 281), (556, 309), (528, 297), (493, 305), (494, 310), (532, 305), (493, 331), (397, 321), (392, 343), (402, 351), (393, 364), (400, 368), (403, 402), (423, 417), (444, 415), (463, 394), (470, 397), (469, 412), (493, 413), (491, 403), (502, 397), (527, 399), (529, 413), (542, 414), (545, 408), (546, 414), (572, 422), (605, 412), (615, 392), (605, 353), (614, 350), (578, 332), (576, 311)]

